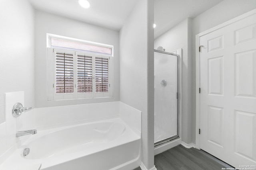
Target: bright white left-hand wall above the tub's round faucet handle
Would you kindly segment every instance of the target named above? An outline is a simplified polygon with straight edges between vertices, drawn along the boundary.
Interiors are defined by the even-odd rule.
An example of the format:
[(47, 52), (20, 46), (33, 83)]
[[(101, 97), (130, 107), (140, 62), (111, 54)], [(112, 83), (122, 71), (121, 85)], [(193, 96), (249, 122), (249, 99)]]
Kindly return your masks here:
[(34, 107), (34, 9), (27, 0), (0, 0), (0, 123), (4, 93), (25, 92)]

